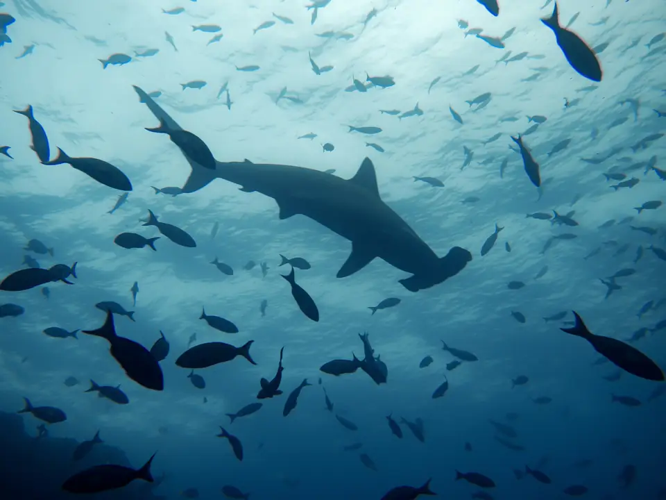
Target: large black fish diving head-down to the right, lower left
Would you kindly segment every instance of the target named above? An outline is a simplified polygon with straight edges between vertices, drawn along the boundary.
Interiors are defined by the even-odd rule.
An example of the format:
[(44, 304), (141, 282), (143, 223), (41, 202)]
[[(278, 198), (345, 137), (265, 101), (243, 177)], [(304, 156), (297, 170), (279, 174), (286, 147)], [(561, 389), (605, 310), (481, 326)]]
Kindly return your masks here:
[(119, 337), (113, 324), (113, 313), (107, 310), (106, 321), (96, 330), (83, 330), (83, 333), (101, 337), (111, 344), (111, 356), (125, 370), (133, 381), (152, 390), (164, 390), (164, 375), (153, 355), (138, 342)]

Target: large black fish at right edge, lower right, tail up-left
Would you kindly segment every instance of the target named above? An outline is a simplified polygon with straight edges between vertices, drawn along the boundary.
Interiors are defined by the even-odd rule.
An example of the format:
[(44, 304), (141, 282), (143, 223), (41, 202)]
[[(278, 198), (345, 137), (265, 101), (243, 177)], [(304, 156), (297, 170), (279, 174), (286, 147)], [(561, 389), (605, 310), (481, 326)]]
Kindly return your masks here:
[(621, 340), (590, 333), (578, 313), (576, 311), (573, 313), (576, 318), (575, 326), (572, 328), (560, 328), (563, 332), (584, 338), (592, 344), (595, 351), (608, 358), (611, 363), (624, 369), (626, 372), (647, 380), (664, 380), (662, 370), (653, 360)]

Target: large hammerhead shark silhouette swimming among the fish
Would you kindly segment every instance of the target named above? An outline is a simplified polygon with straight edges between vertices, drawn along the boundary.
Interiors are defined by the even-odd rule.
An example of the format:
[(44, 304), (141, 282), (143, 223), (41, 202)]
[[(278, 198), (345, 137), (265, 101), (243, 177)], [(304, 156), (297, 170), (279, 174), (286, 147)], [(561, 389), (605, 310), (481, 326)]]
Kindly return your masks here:
[[(134, 86), (153, 115), (172, 130), (182, 128), (141, 88)], [(185, 153), (183, 153), (185, 156)], [(413, 276), (400, 280), (411, 292), (442, 283), (461, 272), (472, 260), (466, 249), (453, 247), (446, 256), (436, 253), (379, 197), (375, 167), (366, 158), (349, 180), (314, 169), (271, 163), (216, 161), (205, 169), (185, 156), (192, 172), (182, 188), (191, 193), (215, 178), (241, 186), (245, 192), (260, 192), (275, 199), (280, 219), (305, 215), (352, 242), (352, 253), (337, 273), (345, 278), (379, 257)]]

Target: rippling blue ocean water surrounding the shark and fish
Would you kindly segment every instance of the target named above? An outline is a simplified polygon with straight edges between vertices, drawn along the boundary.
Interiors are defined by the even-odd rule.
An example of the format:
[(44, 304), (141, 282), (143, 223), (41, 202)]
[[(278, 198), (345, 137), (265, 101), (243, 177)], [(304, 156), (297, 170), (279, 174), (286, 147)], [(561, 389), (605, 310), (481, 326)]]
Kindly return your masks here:
[[(456, 481), (457, 470), (491, 478), (495, 486), (484, 491), (497, 500), (565, 499), (572, 485), (595, 500), (666, 498), (663, 383), (600, 363), (586, 340), (561, 331), (576, 310), (592, 333), (631, 340), (666, 366), (666, 209), (654, 203), (666, 201), (664, 1), (557, 2), (561, 25), (595, 49), (600, 82), (567, 63), (540, 21), (554, 7), (545, 0), (499, 0), (497, 17), (475, 0), (4, 3), (0, 12), (15, 22), (0, 15), (0, 147), (10, 147), (0, 155), (0, 274), (27, 267), (25, 256), (44, 269), (77, 264), (73, 285), (42, 283), (48, 297), (42, 285), (0, 291), (0, 305), (24, 308), (0, 318), (3, 498), (73, 498), (60, 491), (72, 474), (109, 462), (138, 468), (155, 452), (153, 476), (164, 481), (151, 492), (137, 480), (96, 497), (177, 499), (196, 488), (214, 499), (234, 485), (253, 500), (379, 500), (429, 478), (436, 498), (477, 495), (482, 488)], [(391, 79), (373, 85), (376, 76)], [(12, 113), (27, 106), (46, 131), (51, 160), (60, 147), (114, 165), (132, 183), (126, 202), (110, 214), (121, 190), (68, 165), (41, 165), (28, 119)], [(247, 158), (248, 172), (271, 182), (241, 191), (219, 164), (221, 178), (195, 165), (188, 182), (191, 166), (178, 146), (145, 130), (164, 116), (219, 162), (243, 174)], [(540, 165), (539, 188), (510, 149), (519, 134)], [(339, 183), (322, 197), (298, 184), (300, 174), (285, 183), (274, 168), (334, 169), (327, 175), (350, 179), (366, 157), (386, 205), (437, 256), (470, 251), (464, 269), (418, 292), (398, 281), (409, 273), (381, 258), (336, 278), (349, 238), (294, 206), (286, 217), (290, 207), (278, 208), (278, 195), (262, 194), (318, 197), (344, 224), (366, 220), (375, 203)], [(176, 196), (160, 192), (166, 187)], [(142, 226), (148, 210), (187, 231), (196, 248)], [(568, 217), (554, 221), (553, 210)], [(385, 222), (366, 230), (382, 233)], [(481, 255), (496, 224), (497, 242)], [(114, 244), (124, 232), (160, 236), (157, 250)], [(30, 240), (45, 253), (26, 249)], [(296, 283), (314, 299), (318, 322), (279, 276), (290, 270), (280, 254), (311, 264), (296, 269)], [(388, 298), (400, 303), (368, 310)], [(99, 328), (101, 301), (134, 311), (134, 322), (114, 315), (119, 335), (147, 348), (160, 331), (169, 340), (163, 391), (128, 378), (101, 338), (43, 333)], [(239, 332), (212, 328), (202, 308)], [(364, 332), (388, 367), (386, 383), (361, 369), (321, 372), (352, 352), (362, 359)], [(176, 365), (194, 333), (191, 345), (254, 340), (257, 365), (239, 356), (198, 369), (206, 387), (194, 387), (190, 370)], [(454, 367), (442, 342), (478, 360)], [(284, 394), (231, 424), (225, 414), (257, 401), (282, 347)], [(433, 361), (421, 368), (425, 356)], [(514, 387), (518, 376), (529, 380)], [(78, 383), (65, 385), (68, 377)], [(311, 387), (284, 417), (304, 378)], [(86, 393), (90, 379), (120, 385), (130, 403)], [(433, 399), (445, 380), (446, 394)], [(25, 397), (62, 409), (67, 420), (36, 437), (43, 422), (16, 415)], [(421, 419), (424, 442), (404, 424), (402, 439), (393, 435), (387, 415)], [(242, 461), (216, 437), (220, 426), (241, 440)], [(72, 461), (77, 442), (97, 431), (104, 444)], [(345, 451), (355, 443), (361, 447)], [(524, 476), (526, 465), (552, 483)]]

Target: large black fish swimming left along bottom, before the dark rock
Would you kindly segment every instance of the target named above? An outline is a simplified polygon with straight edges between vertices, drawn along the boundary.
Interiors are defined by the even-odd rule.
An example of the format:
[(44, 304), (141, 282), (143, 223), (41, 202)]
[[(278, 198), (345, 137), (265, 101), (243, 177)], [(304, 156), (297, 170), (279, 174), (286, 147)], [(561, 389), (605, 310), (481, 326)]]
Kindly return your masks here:
[(138, 470), (123, 465), (95, 465), (67, 479), (62, 484), (62, 490), (70, 493), (99, 493), (116, 490), (128, 485), (135, 479), (143, 479), (148, 483), (153, 483), (154, 480), (151, 475), (153, 458), (155, 458), (155, 454)]

